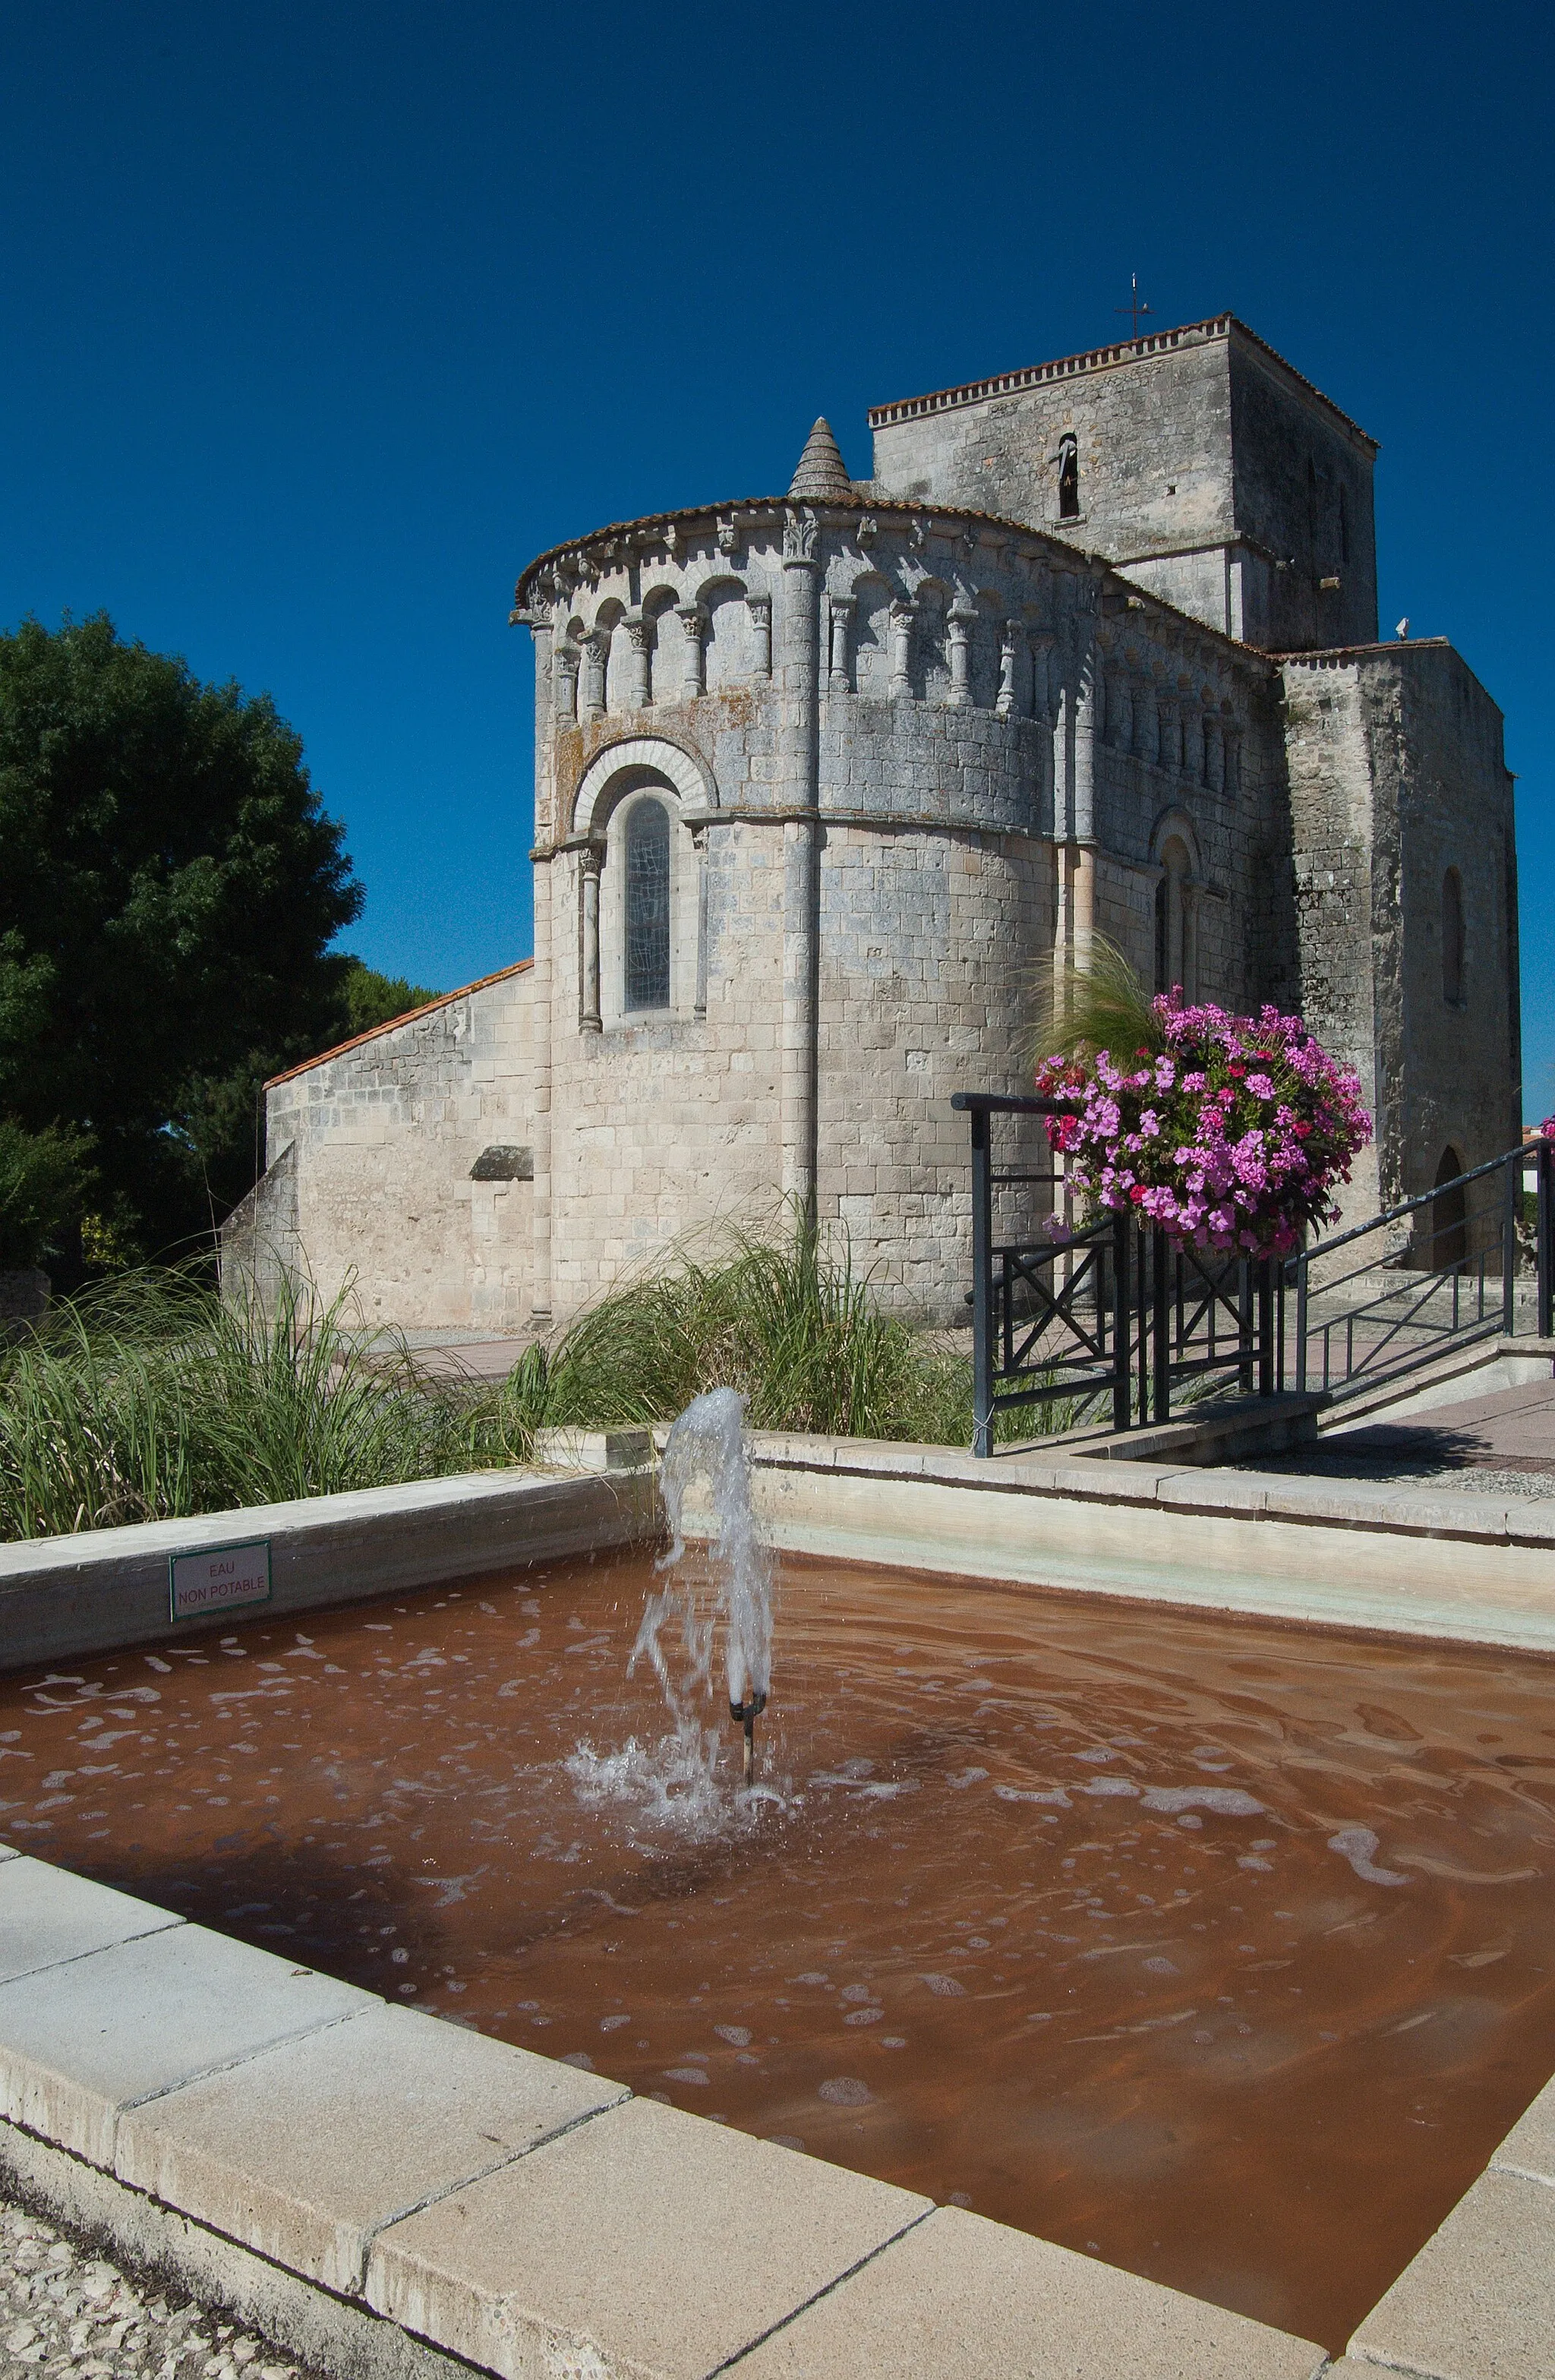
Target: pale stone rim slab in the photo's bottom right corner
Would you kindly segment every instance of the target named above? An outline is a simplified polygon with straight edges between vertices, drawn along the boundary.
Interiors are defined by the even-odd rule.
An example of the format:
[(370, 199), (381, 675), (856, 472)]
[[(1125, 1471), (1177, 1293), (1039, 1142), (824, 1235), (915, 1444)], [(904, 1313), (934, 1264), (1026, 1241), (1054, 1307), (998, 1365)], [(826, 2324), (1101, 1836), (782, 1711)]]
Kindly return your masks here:
[(1426, 2380), (1550, 2380), (1555, 2190), (1481, 2173), (1350, 2340)]

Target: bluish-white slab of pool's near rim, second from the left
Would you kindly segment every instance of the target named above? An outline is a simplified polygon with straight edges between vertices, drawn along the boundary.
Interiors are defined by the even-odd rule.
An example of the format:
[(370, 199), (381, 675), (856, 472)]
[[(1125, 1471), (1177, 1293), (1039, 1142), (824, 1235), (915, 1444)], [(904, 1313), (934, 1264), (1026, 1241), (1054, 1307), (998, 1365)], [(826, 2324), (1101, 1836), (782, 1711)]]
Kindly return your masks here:
[(0, 1985), (0, 2116), (112, 2168), (119, 2109), (371, 2006), (350, 1983), (171, 1925)]

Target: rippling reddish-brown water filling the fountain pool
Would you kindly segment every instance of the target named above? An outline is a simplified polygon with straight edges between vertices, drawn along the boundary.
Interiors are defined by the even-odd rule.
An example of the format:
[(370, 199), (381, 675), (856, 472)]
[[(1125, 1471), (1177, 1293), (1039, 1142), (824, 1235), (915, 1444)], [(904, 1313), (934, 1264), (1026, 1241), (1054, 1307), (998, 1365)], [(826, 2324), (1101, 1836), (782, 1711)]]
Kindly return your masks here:
[(1343, 2344), (1555, 2068), (1555, 1671), (788, 1564), (741, 1804), (648, 1583), (0, 1680), (0, 1835)]

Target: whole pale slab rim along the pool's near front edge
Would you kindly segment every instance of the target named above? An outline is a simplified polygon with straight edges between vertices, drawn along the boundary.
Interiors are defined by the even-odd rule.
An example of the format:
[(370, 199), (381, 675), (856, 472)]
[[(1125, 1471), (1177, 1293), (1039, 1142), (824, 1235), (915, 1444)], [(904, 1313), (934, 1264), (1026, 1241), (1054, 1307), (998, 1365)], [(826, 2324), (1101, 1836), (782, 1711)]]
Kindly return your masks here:
[(336, 2380), (1314, 2380), (1329, 2361), (29, 1856), (0, 1864), (0, 2178)]

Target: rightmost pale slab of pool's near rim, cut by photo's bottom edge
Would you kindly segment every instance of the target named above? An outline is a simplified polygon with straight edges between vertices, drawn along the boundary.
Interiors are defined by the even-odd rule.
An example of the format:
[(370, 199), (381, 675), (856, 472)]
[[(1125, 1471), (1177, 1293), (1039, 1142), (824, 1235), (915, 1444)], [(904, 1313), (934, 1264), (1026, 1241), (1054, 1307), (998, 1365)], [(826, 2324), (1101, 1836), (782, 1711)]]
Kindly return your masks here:
[(1312, 2380), (1312, 2340), (941, 2206), (733, 2366), (738, 2380)]

